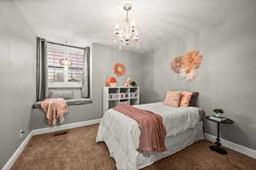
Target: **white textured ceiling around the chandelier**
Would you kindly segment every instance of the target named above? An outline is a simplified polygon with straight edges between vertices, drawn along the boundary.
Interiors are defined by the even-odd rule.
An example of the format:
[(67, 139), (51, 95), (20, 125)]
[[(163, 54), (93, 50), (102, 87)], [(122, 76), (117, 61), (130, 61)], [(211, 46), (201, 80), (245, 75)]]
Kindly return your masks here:
[[(115, 45), (113, 27), (124, 19), (122, 5), (131, 3), (139, 28), (140, 53), (173, 39), (234, 20), (255, 9), (255, 0), (16, 0), (34, 32), (51, 40)], [(254, 20), (255, 21), (255, 20)]]

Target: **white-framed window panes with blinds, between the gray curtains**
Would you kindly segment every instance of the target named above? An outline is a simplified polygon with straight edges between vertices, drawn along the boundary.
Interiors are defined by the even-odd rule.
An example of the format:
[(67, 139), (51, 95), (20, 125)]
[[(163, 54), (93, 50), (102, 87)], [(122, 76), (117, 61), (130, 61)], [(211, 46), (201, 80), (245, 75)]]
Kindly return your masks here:
[(48, 88), (82, 88), (85, 48), (47, 42)]

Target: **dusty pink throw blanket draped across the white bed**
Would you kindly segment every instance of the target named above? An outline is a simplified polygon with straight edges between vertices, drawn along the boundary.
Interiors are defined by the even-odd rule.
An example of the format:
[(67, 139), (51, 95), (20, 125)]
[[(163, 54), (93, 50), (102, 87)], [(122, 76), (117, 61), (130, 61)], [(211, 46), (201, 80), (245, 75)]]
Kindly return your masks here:
[(116, 106), (113, 110), (129, 116), (137, 122), (141, 129), (139, 151), (151, 152), (166, 150), (166, 128), (163, 125), (160, 115), (152, 111), (137, 109), (130, 105)]

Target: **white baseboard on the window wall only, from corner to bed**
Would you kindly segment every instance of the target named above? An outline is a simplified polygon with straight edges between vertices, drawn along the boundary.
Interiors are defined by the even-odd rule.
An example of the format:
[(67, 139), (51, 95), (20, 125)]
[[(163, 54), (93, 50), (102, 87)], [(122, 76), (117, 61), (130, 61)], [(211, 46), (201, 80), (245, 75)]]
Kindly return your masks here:
[(34, 129), (34, 130), (32, 130), (32, 135), (38, 135), (38, 134), (44, 134), (44, 133), (54, 133), (57, 131), (67, 130), (70, 128), (84, 127), (84, 126), (99, 123), (99, 122), (101, 122), (101, 120), (102, 119), (93, 119), (90, 121), (63, 124), (63, 125), (56, 126), (56, 127), (45, 127), (45, 128)]

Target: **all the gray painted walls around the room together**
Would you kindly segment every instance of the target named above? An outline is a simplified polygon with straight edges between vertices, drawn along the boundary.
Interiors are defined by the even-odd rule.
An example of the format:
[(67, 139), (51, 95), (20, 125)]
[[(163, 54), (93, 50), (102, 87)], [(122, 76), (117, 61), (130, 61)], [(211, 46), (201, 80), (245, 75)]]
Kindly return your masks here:
[[(10, 16), (12, 16), (10, 18)], [(148, 54), (92, 46), (93, 103), (70, 106), (65, 123), (102, 117), (102, 87), (113, 75), (113, 64), (122, 62), (126, 77), (141, 85), (142, 103), (163, 101), (166, 90), (199, 91), (199, 105), (207, 115), (220, 107), (234, 125), (221, 127), (221, 136), (256, 150), (256, 23), (255, 11), (223, 26), (201, 32), (200, 37), (173, 40)], [(48, 127), (44, 113), (32, 110), (35, 102), (36, 38), (12, 0), (0, 2), (0, 168), (23, 138), (20, 129)], [(199, 49), (204, 60), (195, 82), (184, 82), (170, 69), (170, 61), (190, 49)], [(216, 125), (205, 121), (205, 131)]]

